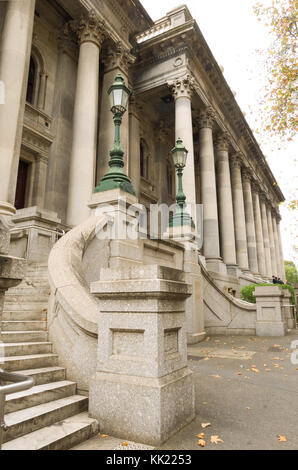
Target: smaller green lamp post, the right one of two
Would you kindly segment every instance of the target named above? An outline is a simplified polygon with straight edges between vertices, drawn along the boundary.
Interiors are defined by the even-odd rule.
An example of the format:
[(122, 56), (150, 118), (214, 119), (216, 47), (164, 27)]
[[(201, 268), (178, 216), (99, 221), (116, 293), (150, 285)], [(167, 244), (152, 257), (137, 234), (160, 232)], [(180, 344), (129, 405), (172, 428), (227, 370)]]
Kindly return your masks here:
[(184, 210), (186, 196), (183, 192), (182, 176), (186, 165), (188, 150), (184, 147), (182, 139), (179, 138), (177, 140), (176, 146), (171, 150), (171, 154), (178, 176), (178, 192), (176, 196), (178, 208), (174, 217), (170, 221), (170, 227), (182, 227), (188, 225), (195, 228), (195, 224), (191, 216)]

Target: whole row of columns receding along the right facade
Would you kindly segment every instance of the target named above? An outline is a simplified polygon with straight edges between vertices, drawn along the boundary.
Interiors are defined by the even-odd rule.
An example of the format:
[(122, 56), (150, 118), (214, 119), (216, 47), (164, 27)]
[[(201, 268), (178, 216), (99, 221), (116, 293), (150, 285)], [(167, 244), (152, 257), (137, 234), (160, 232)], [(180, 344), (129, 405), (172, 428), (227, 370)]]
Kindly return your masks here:
[[(184, 187), (189, 204), (196, 204), (194, 182), (193, 79), (186, 75), (169, 83), (175, 98), (176, 138), (190, 150)], [(213, 140), (215, 115), (211, 107), (201, 112), (200, 186), (203, 205), (203, 251), (209, 269), (237, 275), (237, 269), (263, 278), (285, 278), (281, 250), (280, 216), (253, 176), (245, 169), (240, 153), (229, 154), (226, 132)], [(253, 184), (252, 184), (253, 183)], [(222, 263), (223, 261), (223, 263)]]

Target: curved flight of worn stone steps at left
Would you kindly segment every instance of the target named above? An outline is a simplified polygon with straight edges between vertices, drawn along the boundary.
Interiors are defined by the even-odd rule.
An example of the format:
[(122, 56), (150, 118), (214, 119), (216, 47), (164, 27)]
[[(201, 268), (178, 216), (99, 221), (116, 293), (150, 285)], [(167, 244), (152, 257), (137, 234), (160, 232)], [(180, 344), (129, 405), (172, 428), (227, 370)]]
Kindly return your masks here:
[(31, 264), (24, 281), (5, 296), (2, 337), (6, 371), (34, 377), (35, 386), (6, 397), (3, 450), (59, 450), (98, 432), (88, 398), (76, 394), (48, 341), (47, 266)]

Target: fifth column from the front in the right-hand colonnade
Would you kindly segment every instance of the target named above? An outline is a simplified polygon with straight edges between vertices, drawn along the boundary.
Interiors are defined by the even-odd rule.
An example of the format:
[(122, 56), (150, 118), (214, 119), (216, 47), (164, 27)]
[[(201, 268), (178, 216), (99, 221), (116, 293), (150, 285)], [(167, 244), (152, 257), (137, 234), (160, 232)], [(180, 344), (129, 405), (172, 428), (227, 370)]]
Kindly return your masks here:
[(251, 173), (247, 170), (244, 170), (242, 173), (242, 179), (249, 268), (253, 274), (259, 274), (256, 227), (251, 189)]

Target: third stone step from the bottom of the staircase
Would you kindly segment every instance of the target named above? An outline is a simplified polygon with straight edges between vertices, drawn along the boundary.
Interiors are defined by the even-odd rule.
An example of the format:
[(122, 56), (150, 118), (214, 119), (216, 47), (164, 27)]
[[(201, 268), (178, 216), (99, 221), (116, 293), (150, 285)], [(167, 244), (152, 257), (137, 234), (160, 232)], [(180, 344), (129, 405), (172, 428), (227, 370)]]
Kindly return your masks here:
[(76, 393), (76, 383), (64, 380), (43, 385), (36, 385), (30, 390), (7, 395), (5, 413), (31, 408), (42, 403), (48, 403), (60, 398), (69, 397)]

